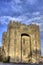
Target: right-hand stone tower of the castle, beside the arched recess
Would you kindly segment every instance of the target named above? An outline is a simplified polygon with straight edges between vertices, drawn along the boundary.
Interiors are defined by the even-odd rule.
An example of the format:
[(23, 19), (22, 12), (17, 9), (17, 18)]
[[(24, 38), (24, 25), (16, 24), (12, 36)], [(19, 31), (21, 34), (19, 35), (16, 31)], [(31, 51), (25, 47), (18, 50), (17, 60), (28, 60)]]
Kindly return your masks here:
[(31, 33), (32, 62), (39, 63), (41, 57), (39, 26), (35, 24), (29, 25), (29, 32)]

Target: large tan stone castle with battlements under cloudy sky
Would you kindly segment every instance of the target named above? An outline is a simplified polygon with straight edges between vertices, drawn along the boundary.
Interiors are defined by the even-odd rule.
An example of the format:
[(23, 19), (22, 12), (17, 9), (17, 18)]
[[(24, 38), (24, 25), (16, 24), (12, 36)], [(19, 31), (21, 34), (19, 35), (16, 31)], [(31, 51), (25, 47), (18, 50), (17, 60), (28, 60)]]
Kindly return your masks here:
[(10, 21), (2, 36), (3, 61), (39, 63), (41, 58), (40, 31), (36, 24), (25, 25)]

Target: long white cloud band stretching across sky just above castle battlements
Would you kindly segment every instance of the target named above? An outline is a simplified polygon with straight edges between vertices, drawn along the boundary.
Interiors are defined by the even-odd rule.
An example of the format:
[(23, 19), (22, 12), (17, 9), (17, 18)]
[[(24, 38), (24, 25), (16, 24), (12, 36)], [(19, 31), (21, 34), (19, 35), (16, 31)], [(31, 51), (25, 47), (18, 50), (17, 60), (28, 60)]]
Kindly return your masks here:
[[(27, 23), (31, 22), (37, 22), (36, 20), (41, 20), (43, 16), (34, 17), (34, 18), (28, 18), (27, 16), (18, 16), (18, 17), (11, 17), (11, 16), (1, 16), (0, 17), (0, 23), (4, 24), (6, 22), (6, 19), (8, 20), (15, 20), (15, 21), (26, 21)], [(25, 22), (24, 22), (25, 23)], [(37, 22), (39, 23), (39, 22)], [(40, 22), (42, 23), (42, 21)]]

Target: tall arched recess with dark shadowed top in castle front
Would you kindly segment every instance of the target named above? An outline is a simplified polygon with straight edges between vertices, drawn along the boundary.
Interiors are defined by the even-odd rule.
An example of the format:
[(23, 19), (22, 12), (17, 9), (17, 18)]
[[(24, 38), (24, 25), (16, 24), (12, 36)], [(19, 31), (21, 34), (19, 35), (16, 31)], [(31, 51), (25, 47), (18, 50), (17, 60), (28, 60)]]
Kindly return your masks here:
[(28, 34), (21, 34), (21, 62), (29, 63), (31, 50), (31, 40)]

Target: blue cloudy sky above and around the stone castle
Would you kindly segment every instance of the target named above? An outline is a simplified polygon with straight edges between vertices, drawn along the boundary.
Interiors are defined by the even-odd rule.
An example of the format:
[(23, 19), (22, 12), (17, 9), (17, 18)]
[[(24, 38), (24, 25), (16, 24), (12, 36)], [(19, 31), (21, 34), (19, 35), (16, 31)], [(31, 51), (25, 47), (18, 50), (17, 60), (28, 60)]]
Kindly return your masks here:
[(0, 45), (10, 20), (39, 25), (43, 55), (43, 0), (0, 0)]

